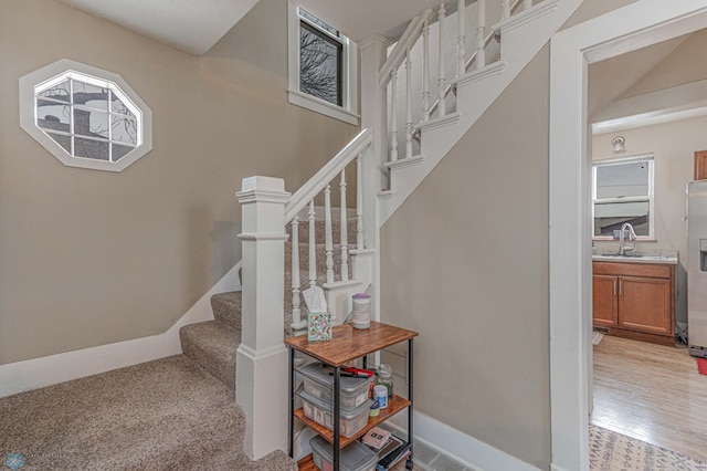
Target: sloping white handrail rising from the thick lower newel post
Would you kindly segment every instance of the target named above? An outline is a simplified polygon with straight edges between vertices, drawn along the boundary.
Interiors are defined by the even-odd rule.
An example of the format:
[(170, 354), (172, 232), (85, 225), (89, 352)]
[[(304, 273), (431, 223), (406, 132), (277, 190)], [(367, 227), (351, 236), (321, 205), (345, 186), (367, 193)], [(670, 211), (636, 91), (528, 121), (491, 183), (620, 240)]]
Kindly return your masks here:
[(361, 130), (358, 136), (346, 145), (339, 153), (304, 184), (285, 205), (285, 223), (292, 221), (305, 206), (326, 188), (329, 182), (341, 172), (363, 149), (373, 143), (370, 128)]

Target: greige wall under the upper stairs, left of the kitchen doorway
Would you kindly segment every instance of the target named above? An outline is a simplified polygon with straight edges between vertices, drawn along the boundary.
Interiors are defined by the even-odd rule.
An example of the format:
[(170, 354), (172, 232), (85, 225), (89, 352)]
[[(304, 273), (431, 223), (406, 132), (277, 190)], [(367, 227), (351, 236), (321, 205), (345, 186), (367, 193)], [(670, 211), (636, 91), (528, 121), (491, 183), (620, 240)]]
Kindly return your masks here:
[(546, 46), (381, 234), (382, 318), (420, 332), (416, 410), (541, 469), (550, 462), (548, 84)]

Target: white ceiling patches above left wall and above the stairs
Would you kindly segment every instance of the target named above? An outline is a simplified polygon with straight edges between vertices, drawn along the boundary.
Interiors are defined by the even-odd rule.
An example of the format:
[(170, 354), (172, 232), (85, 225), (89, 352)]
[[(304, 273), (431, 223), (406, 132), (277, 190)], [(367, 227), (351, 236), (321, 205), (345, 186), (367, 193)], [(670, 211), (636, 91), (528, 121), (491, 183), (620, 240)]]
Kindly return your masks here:
[[(175, 48), (202, 55), (258, 0), (60, 0)], [(283, 0), (284, 1), (284, 0)], [(467, 0), (468, 1), (468, 0)], [(395, 39), (412, 17), (440, 0), (300, 0), (312, 13), (358, 41)], [(456, 11), (455, 0), (444, 0)]]

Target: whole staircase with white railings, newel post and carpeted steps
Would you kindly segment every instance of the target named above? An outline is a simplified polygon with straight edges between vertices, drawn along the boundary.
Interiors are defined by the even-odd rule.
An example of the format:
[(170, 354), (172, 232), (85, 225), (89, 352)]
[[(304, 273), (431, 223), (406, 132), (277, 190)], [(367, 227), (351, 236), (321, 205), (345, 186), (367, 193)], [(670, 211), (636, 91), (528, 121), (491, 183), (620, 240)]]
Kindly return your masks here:
[[(302, 291), (323, 287), (341, 323), (351, 295), (371, 286), (371, 315), (379, 318), (380, 228), (581, 0), (495, 1), (496, 18), (486, 15), (487, 2), (467, 7), (460, 0), (449, 17), (444, 3), (426, 10), (390, 51), (381, 39), (363, 44), (363, 130), (295, 195), (278, 179), (243, 180), (236, 195), (243, 207), (243, 292), (213, 296), (214, 320), (182, 327), (180, 339), (186, 355), (235, 389), (249, 420), (250, 458), (286, 446), (283, 336), (306, 328)], [(473, 41), (467, 24), (474, 24)], [(432, 34), (442, 44), (434, 61)]]

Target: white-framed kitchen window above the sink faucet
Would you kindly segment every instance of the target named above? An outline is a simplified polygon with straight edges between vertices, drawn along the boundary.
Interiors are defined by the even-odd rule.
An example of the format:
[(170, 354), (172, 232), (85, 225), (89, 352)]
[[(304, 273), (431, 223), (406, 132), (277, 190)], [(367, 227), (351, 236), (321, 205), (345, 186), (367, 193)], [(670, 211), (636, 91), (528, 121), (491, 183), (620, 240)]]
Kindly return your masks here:
[(629, 222), (640, 238), (654, 238), (653, 155), (593, 164), (595, 239), (611, 239)]

